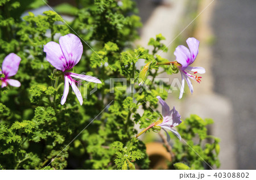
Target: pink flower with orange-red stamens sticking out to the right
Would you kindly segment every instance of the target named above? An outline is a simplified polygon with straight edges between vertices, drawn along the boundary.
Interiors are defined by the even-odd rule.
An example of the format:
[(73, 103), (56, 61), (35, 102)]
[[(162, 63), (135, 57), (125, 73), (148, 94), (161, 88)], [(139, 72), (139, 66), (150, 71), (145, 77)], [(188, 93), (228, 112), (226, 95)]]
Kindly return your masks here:
[[(179, 98), (181, 98), (183, 96), (185, 80), (188, 83), (188, 87), (189, 87), (191, 93), (193, 93), (193, 85), (192, 85), (191, 81), (189, 80), (189, 78), (200, 83), (202, 77), (197, 76), (196, 74), (197, 73), (199, 73), (199, 74), (205, 73), (205, 69), (203, 67), (189, 66), (195, 61), (195, 59), (197, 57), (199, 43), (200, 43), (199, 40), (196, 40), (196, 38), (189, 37), (187, 39), (187, 44), (188, 44), (189, 50), (185, 46), (179, 45), (179, 46), (177, 46), (177, 48), (174, 52), (174, 55), (176, 56), (176, 61), (178, 62), (178, 63), (175, 63), (175, 65), (179, 68), (180, 73), (181, 73), (181, 79), (182, 79)], [(185, 78), (185, 80), (184, 80), (184, 78)]]

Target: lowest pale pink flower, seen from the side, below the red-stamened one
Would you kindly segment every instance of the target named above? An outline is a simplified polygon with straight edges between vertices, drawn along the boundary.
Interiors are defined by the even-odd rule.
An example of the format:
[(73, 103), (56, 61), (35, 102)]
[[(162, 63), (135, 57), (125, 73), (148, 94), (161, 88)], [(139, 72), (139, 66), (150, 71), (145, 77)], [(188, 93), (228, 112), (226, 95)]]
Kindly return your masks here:
[[(163, 116), (163, 121), (162, 123), (159, 123), (158, 126), (162, 127), (164, 131), (169, 130), (174, 133), (179, 140), (181, 140), (181, 136), (179, 132), (175, 131), (172, 127), (178, 126), (182, 121), (180, 120), (180, 114), (177, 112), (175, 107), (170, 110), (170, 107), (162, 100), (160, 96), (156, 97), (159, 100), (159, 103), (162, 105), (162, 116)], [(167, 140), (170, 140), (170, 136), (167, 133)]]

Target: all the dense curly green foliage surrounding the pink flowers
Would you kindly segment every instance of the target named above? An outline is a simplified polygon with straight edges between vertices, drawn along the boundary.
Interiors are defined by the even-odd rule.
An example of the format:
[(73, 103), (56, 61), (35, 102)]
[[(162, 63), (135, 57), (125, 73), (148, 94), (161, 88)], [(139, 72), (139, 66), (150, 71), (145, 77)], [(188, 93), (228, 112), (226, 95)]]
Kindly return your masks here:
[[(123, 0), (122, 5), (114, 0), (82, 0), (76, 7), (67, 3), (56, 6), (61, 15), (73, 16), (71, 22), (64, 22), (53, 11), (42, 15), (29, 12), (42, 5), (41, 0), (0, 1), (0, 64), (9, 53), (22, 59), (13, 76), (22, 85), (0, 89), (0, 169), (148, 169), (145, 144), (132, 137), (138, 133), (135, 123), (145, 128), (159, 119), (158, 112), (151, 108), (158, 107), (156, 96), (167, 98), (170, 89), (168, 84), (154, 82), (162, 73), (156, 63), (168, 61), (156, 56), (157, 52), (167, 51), (162, 43), (164, 37), (150, 39), (152, 52), (142, 47), (131, 49), (138, 37), (137, 28), (141, 27), (131, 0)], [(21, 18), (24, 12), (28, 15)], [(81, 38), (84, 52), (72, 71), (97, 76), (102, 82), (82, 82), (82, 106), (71, 88), (65, 104), (60, 104), (63, 72), (55, 70), (43, 52), (47, 42), (58, 42), (59, 36), (74, 31)], [(140, 69), (135, 63), (139, 59), (150, 63), (143, 79), (148, 89), (137, 83)], [(175, 66), (164, 70), (177, 73)], [(4, 75), (0, 74), (0, 78)], [(126, 87), (115, 82), (110, 89), (113, 78), (127, 79)], [(163, 89), (158, 87), (160, 83)], [(134, 92), (127, 91), (130, 87)], [(90, 94), (94, 88), (97, 91)], [(139, 108), (144, 110), (142, 115)], [(218, 140), (205, 144), (203, 149), (192, 140), (195, 136), (209, 139), (205, 126), (210, 120), (193, 117), (186, 121), (180, 134), (208, 156), (202, 154), (207, 162), (216, 164)], [(203, 167), (195, 153), (180, 142), (175, 142), (174, 151), (176, 161), (186, 161), (191, 168)], [(184, 152), (185, 160), (181, 156)]]

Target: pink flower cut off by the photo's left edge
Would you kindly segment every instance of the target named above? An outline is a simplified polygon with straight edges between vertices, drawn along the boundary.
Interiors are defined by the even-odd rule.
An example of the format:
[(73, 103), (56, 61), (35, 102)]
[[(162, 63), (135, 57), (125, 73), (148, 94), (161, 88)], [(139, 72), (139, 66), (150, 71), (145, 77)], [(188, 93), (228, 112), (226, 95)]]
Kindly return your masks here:
[(6, 87), (8, 84), (14, 87), (20, 87), (20, 82), (18, 80), (9, 79), (17, 73), (20, 60), (20, 57), (14, 53), (10, 53), (3, 59), (2, 71), (0, 71), (0, 74), (4, 74), (5, 78), (1, 78), (2, 88)]

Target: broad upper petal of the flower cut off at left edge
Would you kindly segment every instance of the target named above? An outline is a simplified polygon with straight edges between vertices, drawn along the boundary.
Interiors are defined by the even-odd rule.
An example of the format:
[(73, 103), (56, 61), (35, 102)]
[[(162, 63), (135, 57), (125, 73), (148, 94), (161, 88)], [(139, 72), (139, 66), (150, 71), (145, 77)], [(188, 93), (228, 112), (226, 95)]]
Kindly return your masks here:
[(14, 76), (17, 73), (20, 60), (20, 57), (14, 53), (10, 53), (5, 57), (2, 63), (2, 72), (6, 78)]

